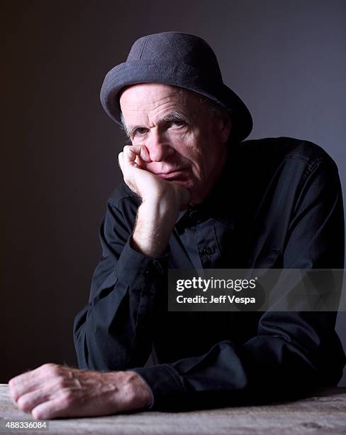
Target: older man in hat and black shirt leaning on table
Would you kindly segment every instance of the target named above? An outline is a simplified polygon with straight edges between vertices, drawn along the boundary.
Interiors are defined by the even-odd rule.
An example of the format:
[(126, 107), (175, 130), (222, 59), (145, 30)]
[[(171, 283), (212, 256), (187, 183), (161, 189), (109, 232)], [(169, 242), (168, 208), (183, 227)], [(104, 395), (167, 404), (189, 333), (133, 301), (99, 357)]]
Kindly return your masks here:
[(335, 312), (167, 310), (168, 269), (342, 268), (333, 160), (296, 139), (242, 142), (250, 113), (196, 36), (140, 38), (106, 75), (101, 102), (131, 144), (118, 156), (125, 183), (108, 200), (89, 305), (74, 323), (82, 370), (48, 364), (13, 378), (18, 407), (48, 419), (336, 385), (345, 355)]

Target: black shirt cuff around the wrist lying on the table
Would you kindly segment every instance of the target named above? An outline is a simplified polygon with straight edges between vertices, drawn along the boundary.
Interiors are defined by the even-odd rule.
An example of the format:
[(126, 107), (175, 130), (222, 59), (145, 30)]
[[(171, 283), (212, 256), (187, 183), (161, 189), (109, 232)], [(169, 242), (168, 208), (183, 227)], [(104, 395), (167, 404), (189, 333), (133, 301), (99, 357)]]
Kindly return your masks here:
[(179, 398), (186, 393), (181, 378), (167, 364), (138, 367), (131, 371), (138, 373), (152, 391), (154, 399), (150, 410), (170, 409), (174, 404), (177, 406)]

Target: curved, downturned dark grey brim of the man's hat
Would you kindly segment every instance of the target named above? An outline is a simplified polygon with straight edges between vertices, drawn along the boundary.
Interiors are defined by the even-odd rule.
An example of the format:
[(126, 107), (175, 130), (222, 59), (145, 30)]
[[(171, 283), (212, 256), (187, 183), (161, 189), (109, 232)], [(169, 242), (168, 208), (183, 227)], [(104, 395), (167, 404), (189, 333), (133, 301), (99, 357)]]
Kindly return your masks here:
[(133, 60), (111, 69), (101, 87), (101, 104), (115, 122), (121, 124), (119, 92), (123, 87), (137, 83), (162, 83), (197, 92), (225, 107), (232, 118), (229, 141), (240, 142), (252, 130), (252, 117), (240, 97), (223, 83), (215, 83), (208, 75), (191, 65), (143, 62)]

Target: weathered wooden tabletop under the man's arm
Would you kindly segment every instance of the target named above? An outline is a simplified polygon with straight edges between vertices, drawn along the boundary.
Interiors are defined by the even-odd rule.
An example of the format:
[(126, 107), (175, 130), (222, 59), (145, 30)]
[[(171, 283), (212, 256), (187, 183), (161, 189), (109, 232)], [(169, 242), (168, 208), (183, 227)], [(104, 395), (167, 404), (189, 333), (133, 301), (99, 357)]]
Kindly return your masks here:
[[(0, 384), (0, 421), (33, 420), (17, 409)], [(4, 426), (4, 421), (1, 421)], [(2, 430), (2, 432), (1, 432)], [(0, 429), (0, 434), (4, 429)], [(10, 431), (8, 432), (10, 433)], [(346, 388), (320, 391), (312, 397), (251, 407), (231, 407), (194, 412), (138, 412), (108, 417), (57, 419), (49, 431), (13, 431), (28, 434), (346, 434)]]

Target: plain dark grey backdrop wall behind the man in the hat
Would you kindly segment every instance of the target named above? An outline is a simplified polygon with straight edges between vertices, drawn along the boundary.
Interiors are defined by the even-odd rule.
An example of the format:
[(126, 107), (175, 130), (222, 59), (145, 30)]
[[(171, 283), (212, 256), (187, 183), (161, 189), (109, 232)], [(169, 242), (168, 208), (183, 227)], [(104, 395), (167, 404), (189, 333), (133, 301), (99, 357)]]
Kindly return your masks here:
[[(320, 144), (346, 184), (345, 1), (9, 1), (5, 43), (5, 291), (1, 379), (75, 364), (74, 315), (99, 259), (98, 228), (120, 179), (124, 136), (99, 103), (136, 38), (195, 33), (252, 112), (251, 138)], [(346, 313), (337, 323), (346, 343)], [(346, 380), (344, 378), (343, 385)]]

